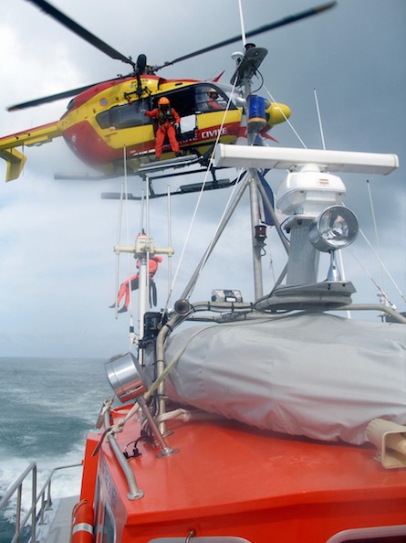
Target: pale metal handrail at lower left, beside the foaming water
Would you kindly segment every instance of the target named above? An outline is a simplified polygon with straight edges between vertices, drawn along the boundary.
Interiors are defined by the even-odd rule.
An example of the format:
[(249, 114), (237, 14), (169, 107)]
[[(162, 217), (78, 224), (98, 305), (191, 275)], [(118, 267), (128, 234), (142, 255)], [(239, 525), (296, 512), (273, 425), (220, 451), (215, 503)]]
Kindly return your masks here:
[[(17, 493), (16, 498), (16, 530), (13, 539), (10, 543), (20, 543), (21, 531), (26, 527), (31, 518), (31, 543), (37, 543), (36, 526), (44, 524), (44, 514), (52, 506), (51, 498), (51, 482), (54, 474), (59, 470), (65, 470), (72, 467), (81, 466), (82, 463), (71, 463), (68, 465), (57, 466), (48, 475), (46, 483), (43, 485), (38, 494), (36, 494), (37, 486), (37, 468), (36, 463), (30, 463), (24, 472), (16, 479), (14, 484), (8, 488), (5, 495), (0, 500), (0, 511), (10, 502), (11, 498)], [(23, 499), (23, 483), (29, 474), (32, 474), (32, 489), (31, 489), (31, 506), (28, 509), (26, 516), (21, 519), (22, 499)], [(47, 495), (47, 499), (46, 499)], [(36, 513), (36, 505), (41, 500), (41, 506)], [(39, 522), (38, 522), (39, 521)]]

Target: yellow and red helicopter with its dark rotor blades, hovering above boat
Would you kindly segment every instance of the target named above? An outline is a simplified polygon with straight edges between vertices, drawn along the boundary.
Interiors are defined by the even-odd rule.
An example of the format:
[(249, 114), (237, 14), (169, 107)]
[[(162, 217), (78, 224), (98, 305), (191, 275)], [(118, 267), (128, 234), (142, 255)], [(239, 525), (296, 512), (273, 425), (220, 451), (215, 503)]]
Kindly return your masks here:
[[(245, 55), (249, 54), (250, 62), (256, 72), (260, 62), (265, 58), (266, 49), (256, 48), (254, 44), (246, 44), (245, 48), (248, 50), (245, 55), (237, 59), (237, 69), (232, 79), (235, 90), (233, 93), (232, 87), (219, 83), (222, 74), (213, 80), (205, 81), (166, 80), (157, 75), (160, 69), (237, 42), (241, 40), (241, 36), (228, 38), (165, 62), (161, 66), (150, 66), (144, 54), (139, 55), (134, 62), (131, 57), (126, 57), (118, 50), (111, 48), (46, 0), (27, 1), (110, 58), (130, 64), (132, 70), (126, 76), (9, 107), (8, 111), (13, 112), (73, 97), (68, 103), (67, 111), (59, 121), (0, 137), (0, 156), (7, 163), (6, 181), (16, 179), (26, 163), (26, 156), (19, 151), (18, 147), (45, 144), (60, 136), (82, 162), (102, 172), (105, 178), (122, 176), (124, 169), (130, 175), (137, 174), (143, 165), (150, 163), (154, 158), (156, 126), (144, 112), (157, 107), (162, 97), (166, 97), (171, 102), (172, 108), (181, 117), (177, 128), (177, 139), (182, 154), (179, 159), (180, 165), (198, 163), (207, 166), (210, 164), (213, 147), (217, 141), (234, 144), (238, 138), (246, 136), (246, 97), (238, 89), (243, 85), (243, 81), (238, 76), (238, 65), (244, 65)], [(296, 15), (258, 27), (247, 32), (245, 36), (254, 37), (307, 16), (316, 15), (335, 4), (336, 2), (331, 2), (309, 8)], [(210, 108), (209, 93), (217, 95), (214, 111)], [(273, 139), (267, 132), (276, 124), (285, 122), (289, 116), (288, 106), (265, 100), (265, 125), (260, 131), (261, 136)], [(124, 165), (124, 150), (126, 165)], [(178, 160), (174, 158), (169, 144), (163, 146), (161, 158), (162, 163), (168, 159), (174, 159), (170, 160), (172, 163)]]

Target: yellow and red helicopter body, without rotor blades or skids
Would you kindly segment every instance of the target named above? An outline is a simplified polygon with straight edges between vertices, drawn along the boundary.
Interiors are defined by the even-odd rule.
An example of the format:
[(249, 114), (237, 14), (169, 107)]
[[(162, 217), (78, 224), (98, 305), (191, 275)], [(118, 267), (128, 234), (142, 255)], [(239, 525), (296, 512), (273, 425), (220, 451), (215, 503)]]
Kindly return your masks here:
[[(216, 91), (213, 103), (209, 91)], [(108, 176), (120, 176), (127, 168), (137, 171), (154, 154), (153, 121), (141, 110), (151, 110), (166, 96), (181, 116), (177, 138), (183, 154), (208, 156), (217, 140), (233, 144), (245, 135), (244, 100), (231, 101), (227, 88), (198, 80), (164, 80), (145, 74), (139, 80), (123, 77), (96, 84), (80, 92), (68, 104), (60, 121), (26, 132), (0, 138), (0, 156), (8, 162), (7, 180), (16, 178), (24, 164), (24, 156), (16, 147), (42, 144), (62, 135), (70, 149), (84, 163)], [(268, 103), (265, 132), (284, 122), (289, 108)], [(162, 158), (173, 156), (164, 145)], [(20, 167), (19, 167), (20, 166)]]

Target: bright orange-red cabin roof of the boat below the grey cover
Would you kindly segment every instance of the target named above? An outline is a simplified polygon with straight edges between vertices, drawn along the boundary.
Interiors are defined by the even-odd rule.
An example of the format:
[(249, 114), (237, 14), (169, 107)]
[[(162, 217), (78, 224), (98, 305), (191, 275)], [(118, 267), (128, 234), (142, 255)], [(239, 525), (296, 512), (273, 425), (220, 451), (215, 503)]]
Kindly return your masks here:
[[(186, 537), (192, 527), (259, 543), (272, 527), (276, 541), (325, 543), (343, 529), (406, 524), (406, 470), (382, 468), (370, 445), (314, 442), (234, 421), (168, 428), (166, 441), (179, 452), (158, 457), (159, 449), (140, 442), (141, 456), (130, 459), (140, 499), (128, 499), (120, 466), (102, 446), (101, 492), (115, 516), (127, 518), (131, 541)], [(118, 435), (121, 451), (138, 435), (138, 422), (129, 421)]]

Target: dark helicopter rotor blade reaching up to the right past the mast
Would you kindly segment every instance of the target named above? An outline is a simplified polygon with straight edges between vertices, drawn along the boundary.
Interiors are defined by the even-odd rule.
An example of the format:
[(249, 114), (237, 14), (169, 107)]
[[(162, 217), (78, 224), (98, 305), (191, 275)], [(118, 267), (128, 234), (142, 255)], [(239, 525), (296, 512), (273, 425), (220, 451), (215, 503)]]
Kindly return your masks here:
[[(283, 19), (279, 19), (278, 21), (275, 21), (274, 23), (269, 23), (268, 25), (264, 25), (263, 27), (255, 28), (254, 30), (247, 32), (245, 34), (245, 37), (253, 37), (253, 36), (256, 36), (257, 34), (262, 34), (263, 32), (267, 32), (268, 30), (274, 30), (275, 28), (285, 27), (286, 25), (290, 25), (290, 23), (294, 23), (301, 19), (305, 19), (309, 16), (318, 15), (322, 11), (326, 11), (330, 9), (331, 7), (334, 7), (335, 5), (337, 5), (337, 1), (328, 2), (328, 4), (322, 4), (316, 7), (310, 7), (309, 9), (302, 11), (300, 13), (297, 13), (296, 15), (286, 16)], [(176, 64), (177, 62), (182, 62), (182, 60), (193, 59), (193, 57), (198, 57), (199, 55), (203, 55), (203, 53), (208, 53), (209, 51), (213, 51), (214, 49), (224, 48), (225, 46), (230, 45), (240, 40), (241, 40), (241, 35), (224, 39), (224, 41), (220, 41), (216, 44), (213, 44), (212, 46), (199, 49), (197, 51), (194, 51), (193, 53), (188, 53), (187, 55), (183, 55), (182, 57), (173, 59), (170, 62), (165, 62), (161, 66), (154, 66), (154, 71), (158, 71), (158, 69), (161, 69), (161, 68), (166, 68), (167, 66), (172, 66), (172, 64)]]

